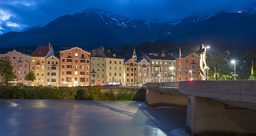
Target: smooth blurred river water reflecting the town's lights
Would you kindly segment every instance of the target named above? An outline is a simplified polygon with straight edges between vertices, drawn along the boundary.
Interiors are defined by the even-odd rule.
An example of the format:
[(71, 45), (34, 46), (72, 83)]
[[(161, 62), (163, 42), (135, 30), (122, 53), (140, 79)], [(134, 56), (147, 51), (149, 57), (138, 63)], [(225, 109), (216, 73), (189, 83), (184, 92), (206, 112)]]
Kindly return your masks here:
[(188, 135), (186, 108), (139, 101), (0, 99), (0, 135)]

